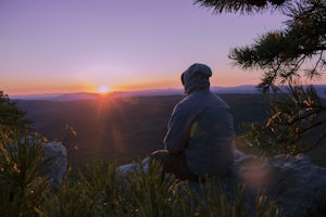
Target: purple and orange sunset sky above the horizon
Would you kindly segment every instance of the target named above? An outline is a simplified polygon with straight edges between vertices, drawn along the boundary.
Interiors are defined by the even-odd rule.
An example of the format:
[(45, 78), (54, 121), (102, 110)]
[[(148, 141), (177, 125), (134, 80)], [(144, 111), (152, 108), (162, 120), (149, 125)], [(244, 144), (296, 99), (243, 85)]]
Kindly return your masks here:
[(0, 0), (0, 90), (181, 88), (180, 74), (193, 63), (212, 68), (212, 86), (256, 85), (260, 72), (227, 55), (284, 21), (213, 14), (192, 0)]

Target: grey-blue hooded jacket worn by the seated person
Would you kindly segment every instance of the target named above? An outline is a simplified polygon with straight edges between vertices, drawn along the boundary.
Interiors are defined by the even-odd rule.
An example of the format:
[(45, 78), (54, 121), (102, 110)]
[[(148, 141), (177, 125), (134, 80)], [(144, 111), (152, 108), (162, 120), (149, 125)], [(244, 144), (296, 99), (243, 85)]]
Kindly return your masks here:
[[(184, 74), (188, 95), (173, 111), (164, 138), (165, 149), (172, 154), (184, 154), (188, 167), (198, 176), (224, 175), (234, 163), (233, 113), (209, 87), (198, 86), (193, 73), (190, 77), (189, 72)], [(199, 77), (200, 82), (206, 86), (203, 78)]]

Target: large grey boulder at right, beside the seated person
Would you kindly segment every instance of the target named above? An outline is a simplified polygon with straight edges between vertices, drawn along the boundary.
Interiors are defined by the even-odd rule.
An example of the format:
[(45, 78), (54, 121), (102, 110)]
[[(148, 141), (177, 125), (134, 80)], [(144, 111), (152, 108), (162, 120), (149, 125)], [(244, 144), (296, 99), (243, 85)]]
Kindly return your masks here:
[(326, 168), (305, 155), (243, 156), (222, 180), (265, 194), (285, 216), (326, 216)]

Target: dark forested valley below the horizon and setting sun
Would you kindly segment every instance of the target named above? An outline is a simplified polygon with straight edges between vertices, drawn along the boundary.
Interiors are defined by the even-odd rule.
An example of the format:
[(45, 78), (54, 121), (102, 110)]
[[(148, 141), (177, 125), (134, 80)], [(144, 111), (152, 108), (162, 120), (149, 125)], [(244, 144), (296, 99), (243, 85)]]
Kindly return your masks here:
[[(266, 99), (259, 94), (222, 94), (233, 108), (241, 135), (243, 122), (262, 120)], [(117, 158), (128, 162), (163, 146), (174, 105), (183, 95), (131, 97), (68, 102), (18, 101), (33, 129), (71, 150), (72, 161)], [(78, 150), (78, 151), (76, 151)]]

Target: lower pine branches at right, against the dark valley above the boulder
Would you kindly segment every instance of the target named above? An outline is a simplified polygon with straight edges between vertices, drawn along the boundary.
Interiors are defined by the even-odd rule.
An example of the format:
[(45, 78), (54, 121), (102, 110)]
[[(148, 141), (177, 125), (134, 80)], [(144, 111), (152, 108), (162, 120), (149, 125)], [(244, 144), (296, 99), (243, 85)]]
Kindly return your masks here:
[(244, 124), (244, 135), (261, 154), (301, 154), (326, 138), (326, 107), (313, 87), (289, 87), (289, 93), (271, 97), (269, 118)]

